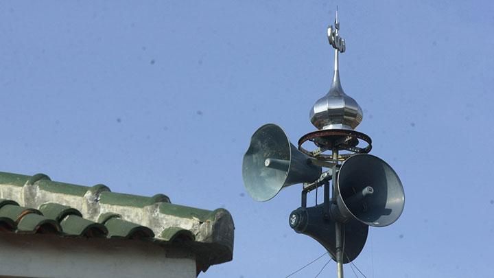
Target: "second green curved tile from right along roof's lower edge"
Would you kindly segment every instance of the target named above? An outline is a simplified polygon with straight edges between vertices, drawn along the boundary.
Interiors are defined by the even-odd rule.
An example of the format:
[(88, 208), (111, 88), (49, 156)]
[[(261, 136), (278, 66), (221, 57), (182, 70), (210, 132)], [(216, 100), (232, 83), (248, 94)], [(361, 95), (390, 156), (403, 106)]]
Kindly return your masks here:
[(113, 238), (154, 238), (154, 233), (148, 227), (141, 226), (120, 218), (110, 218), (104, 222), (108, 229), (108, 237)]

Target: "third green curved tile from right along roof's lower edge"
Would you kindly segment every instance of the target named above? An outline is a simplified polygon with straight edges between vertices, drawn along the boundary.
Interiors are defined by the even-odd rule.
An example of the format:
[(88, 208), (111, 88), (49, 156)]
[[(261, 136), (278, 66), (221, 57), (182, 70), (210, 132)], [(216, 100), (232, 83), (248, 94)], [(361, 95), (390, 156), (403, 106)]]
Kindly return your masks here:
[(67, 235), (82, 235), (88, 238), (102, 238), (108, 235), (108, 229), (103, 224), (99, 224), (80, 216), (69, 215), (60, 222), (62, 231)]

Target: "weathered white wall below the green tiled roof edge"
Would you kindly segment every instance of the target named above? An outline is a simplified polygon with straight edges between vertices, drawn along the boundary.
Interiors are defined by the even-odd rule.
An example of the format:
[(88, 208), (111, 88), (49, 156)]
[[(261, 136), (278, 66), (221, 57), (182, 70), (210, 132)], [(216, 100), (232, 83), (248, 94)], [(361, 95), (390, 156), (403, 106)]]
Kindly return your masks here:
[(0, 233), (0, 277), (196, 277), (191, 253), (139, 240)]

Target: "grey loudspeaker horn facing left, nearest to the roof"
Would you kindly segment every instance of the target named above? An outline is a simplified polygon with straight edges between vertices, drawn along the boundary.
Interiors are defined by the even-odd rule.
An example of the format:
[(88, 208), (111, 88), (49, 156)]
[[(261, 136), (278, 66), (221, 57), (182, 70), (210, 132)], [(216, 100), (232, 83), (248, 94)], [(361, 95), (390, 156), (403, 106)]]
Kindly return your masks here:
[(261, 202), (276, 196), (283, 187), (316, 181), (321, 172), (321, 167), (312, 165), (275, 124), (254, 132), (242, 163), (247, 192)]

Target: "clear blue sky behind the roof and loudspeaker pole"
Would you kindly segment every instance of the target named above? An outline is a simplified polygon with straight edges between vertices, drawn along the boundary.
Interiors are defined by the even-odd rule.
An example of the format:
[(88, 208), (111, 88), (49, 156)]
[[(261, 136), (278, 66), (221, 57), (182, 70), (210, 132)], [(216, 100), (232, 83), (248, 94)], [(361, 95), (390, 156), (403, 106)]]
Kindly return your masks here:
[[(367, 277), (491, 276), (493, 1), (3, 1), (0, 171), (224, 207), (233, 262), (200, 277), (285, 277), (325, 249), (288, 225), (301, 186), (255, 202), (242, 157), (262, 124), (292, 142), (315, 130), (337, 4), (357, 130), (406, 196), (355, 264)], [(319, 277), (335, 273), (330, 262)]]

